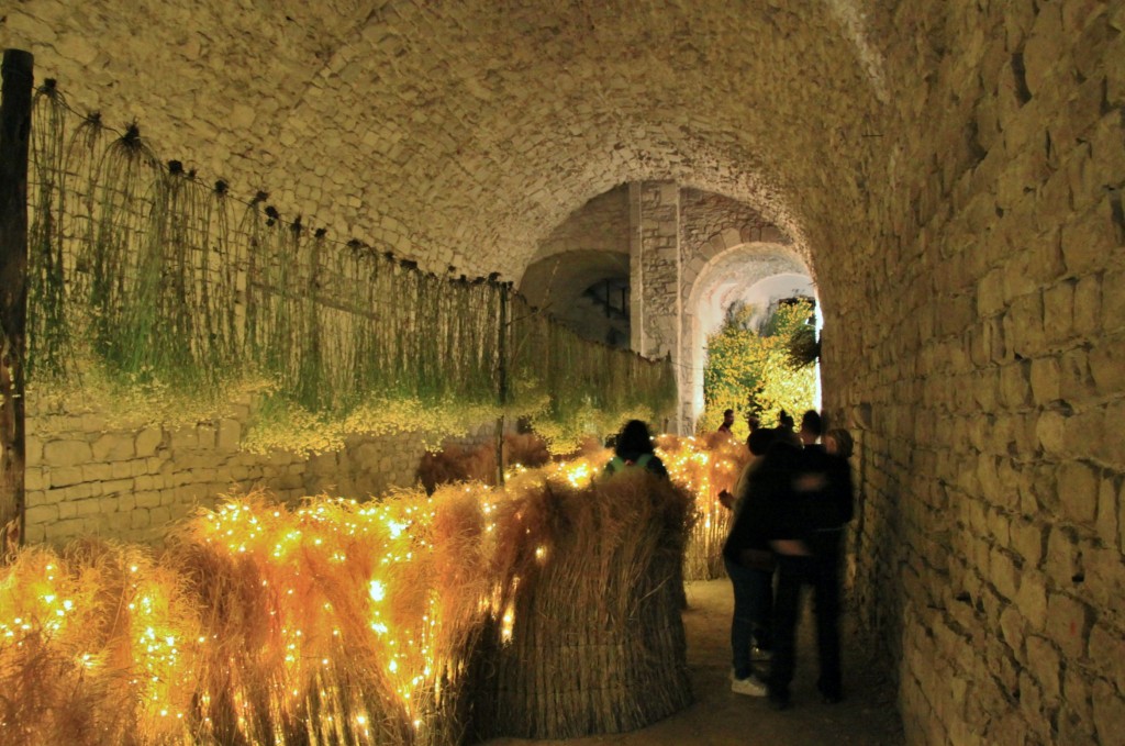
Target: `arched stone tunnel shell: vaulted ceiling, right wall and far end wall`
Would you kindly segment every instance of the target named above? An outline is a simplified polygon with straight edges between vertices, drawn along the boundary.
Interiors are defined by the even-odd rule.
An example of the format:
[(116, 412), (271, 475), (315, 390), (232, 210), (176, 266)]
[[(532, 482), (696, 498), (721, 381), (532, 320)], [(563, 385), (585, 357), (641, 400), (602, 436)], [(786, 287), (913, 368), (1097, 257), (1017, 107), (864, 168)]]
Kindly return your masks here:
[(628, 268), (645, 352), (691, 358), (741, 254), (808, 271), (858, 441), (848, 582), (911, 741), (1108, 744), (1123, 27), (1118, 0), (25, 0), (0, 46), (161, 155), (438, 271), (542, 286), (572, 215), (616, 198), (626, 232), (586, 249), (641, 260), (564, 271)]

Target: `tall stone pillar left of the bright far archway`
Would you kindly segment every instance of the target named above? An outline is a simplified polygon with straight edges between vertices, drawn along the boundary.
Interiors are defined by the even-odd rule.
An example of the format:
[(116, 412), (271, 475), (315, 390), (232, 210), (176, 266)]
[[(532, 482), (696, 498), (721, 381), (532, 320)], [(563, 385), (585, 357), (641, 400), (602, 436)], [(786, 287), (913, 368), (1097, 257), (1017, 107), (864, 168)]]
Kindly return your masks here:
[[(648, 358), (670, 354), (678, 370), (680, 187), (673, 181), (631, 183), (629, 221), (631, 347)], [(670, 429), (678, 431), (678, 420)]]

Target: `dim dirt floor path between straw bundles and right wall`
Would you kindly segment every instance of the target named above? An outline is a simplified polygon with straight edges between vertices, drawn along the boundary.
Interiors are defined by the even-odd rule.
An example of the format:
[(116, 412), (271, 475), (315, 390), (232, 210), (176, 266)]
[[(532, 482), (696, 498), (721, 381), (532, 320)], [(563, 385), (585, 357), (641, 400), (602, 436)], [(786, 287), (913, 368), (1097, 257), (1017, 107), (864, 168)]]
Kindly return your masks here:
[[(810, 605), (806, 599), (806, 609)], [(730, 584), (687, 584), (687, 666), (695, 703), (642, 730), (566, 741), (500, 738), (487, 746), (582, 744), (614, 746), (901, 746), (906, 743), (894, 707), (894, 691), (866, 646), (845, 624), (845, 700), (822, 704), (817, 694), (816, 640), (812, 619), (801, 621), (793, 705), (776, 712), (766, 700), (730, 691)], [(845, 613), (846, 615), (846, 613)]]

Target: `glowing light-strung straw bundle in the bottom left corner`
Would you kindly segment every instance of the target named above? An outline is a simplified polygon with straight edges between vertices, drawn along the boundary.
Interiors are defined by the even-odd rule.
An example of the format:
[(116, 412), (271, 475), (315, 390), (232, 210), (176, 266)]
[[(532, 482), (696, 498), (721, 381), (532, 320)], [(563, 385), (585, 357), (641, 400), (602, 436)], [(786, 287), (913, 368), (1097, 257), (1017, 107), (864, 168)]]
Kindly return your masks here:
[(143, 548), (22, 550), (0, 583), (0, 743), (177, 740), (198, 623)]

